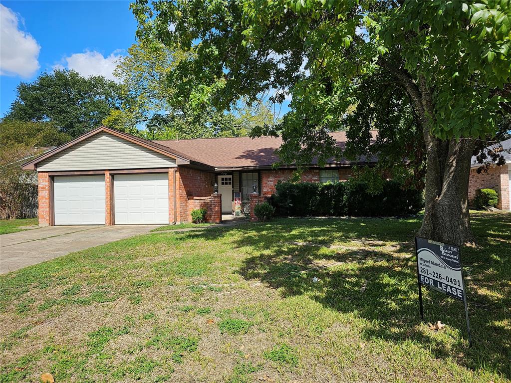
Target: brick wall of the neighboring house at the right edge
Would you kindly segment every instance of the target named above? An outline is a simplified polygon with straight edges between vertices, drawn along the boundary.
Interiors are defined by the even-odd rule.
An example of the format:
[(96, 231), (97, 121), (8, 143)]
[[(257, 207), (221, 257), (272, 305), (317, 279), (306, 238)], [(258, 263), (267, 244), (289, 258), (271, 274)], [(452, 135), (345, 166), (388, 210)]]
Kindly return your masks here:
[(477, 174), (477, 168), (470, 170), (469, 178), (469, 201), (472, 202), (477, 189), (495, 189), (499, 195), (497, 207), (509, 210), (509, 176), (508, 166), (492, 166), (487, 173)]

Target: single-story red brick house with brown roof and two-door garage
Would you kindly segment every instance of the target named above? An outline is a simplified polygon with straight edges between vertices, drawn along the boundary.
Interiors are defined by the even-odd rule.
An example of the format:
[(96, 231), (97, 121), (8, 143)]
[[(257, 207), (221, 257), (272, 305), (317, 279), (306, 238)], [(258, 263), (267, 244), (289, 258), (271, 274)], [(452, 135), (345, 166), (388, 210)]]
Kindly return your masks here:
[[(344, 132), (333, 132), (344, 147)], [(168, 224), (190, 221), (205, 207), (209, 222), (230, 213), (234, 193), (269, 197), (295, 167), (272, 168), (274, 137), (149, 141), (99, 127), (23, 165), (36, 170), (42, 225)], [(355, 164), (376, 158), (311, 164), (304, 181), (345, 180)], [(215, 184), (218, 193), (214, 193)], [(254, 193), (255, 189), (255, 193)], [(262, 199), (262, 198), (261, 198)]]

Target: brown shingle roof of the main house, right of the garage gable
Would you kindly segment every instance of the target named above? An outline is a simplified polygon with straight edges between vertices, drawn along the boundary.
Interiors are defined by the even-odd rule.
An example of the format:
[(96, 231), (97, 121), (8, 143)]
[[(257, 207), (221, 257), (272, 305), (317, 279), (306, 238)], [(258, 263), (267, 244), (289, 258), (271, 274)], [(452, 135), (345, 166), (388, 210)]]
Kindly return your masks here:
[[(337, 146), (344, 149), (346, 143), (345, 132), (333, 132)], [(373, 137), (376, 136), (374, 132)], [(201, 162), (217, 169), (230, 167), (269, 167), (278, 161), (275, 149), (281, 146), (282, 139), (271, 136), (250, 137), (222, 137), (222, 138), (196, 138), (182, 140), (156, 140), (161, 146), (169, 148), (172, 152)], [(341, 158), (340, 161), (328, 161), (330, 164), (350, 165), (361, 162), (376, 162), (376, 157), (361, 156), (357, 161)]]

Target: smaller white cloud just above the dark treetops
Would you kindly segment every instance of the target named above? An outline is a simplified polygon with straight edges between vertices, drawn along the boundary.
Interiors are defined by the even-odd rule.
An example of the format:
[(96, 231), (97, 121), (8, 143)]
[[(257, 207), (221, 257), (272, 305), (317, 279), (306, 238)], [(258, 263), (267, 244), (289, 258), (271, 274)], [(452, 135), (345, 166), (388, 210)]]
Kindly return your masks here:
[(76, 70), (83, 77), (100, 75), (118, 82), (119, 79), (113, 76), (113, 70), (117, 65), (117, 61), (122, 57), (120, 53), (121, 51), (114, 51), (107, 57), (96, 51), (74, 53), (71, 56), (64, 57), (62, 63), (54, 65), (53, 68)]

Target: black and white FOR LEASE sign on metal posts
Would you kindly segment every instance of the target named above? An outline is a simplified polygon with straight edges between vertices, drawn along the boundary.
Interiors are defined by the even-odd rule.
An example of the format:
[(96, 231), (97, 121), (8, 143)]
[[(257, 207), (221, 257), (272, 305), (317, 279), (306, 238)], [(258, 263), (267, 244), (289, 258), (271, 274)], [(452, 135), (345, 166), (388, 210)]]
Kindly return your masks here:
[(421, 319), (424, 320), (422, 285), (463, 301), (469, 345), (472, 346), (469, 310), (461, 275), (459, 247), (415, 237), (415, 254), (417, 256), (417, 283), (419, 284)]

